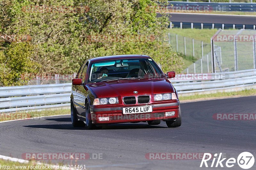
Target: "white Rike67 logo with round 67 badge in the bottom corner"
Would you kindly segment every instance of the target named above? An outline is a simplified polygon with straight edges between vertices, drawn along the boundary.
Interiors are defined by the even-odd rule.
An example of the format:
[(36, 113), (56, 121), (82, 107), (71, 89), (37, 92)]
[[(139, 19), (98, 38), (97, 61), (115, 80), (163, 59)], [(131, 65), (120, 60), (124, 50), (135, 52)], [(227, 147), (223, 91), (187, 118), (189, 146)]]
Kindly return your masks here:
[[(212, 159), (212, 164), (210, 167), (219, 167), (219, 166), (224, 167), (223, 165), (225, 165), (226, 167), (230, 168), (230, 167), (235, 166), (235, 164), (237, 163), (241, 168), (249, 169), (254, 165), (254, 156), (250, 152), (240, 153), (238, 155), (237, 159), (235, 159), (235, 158), (221, 159), (221, 155), (222, 155), (222, 153), (220, 153), (220, 154), (215, 153), (214, 157), (212, 159), (211, 153), (204, 153), (200, 167), (204, 167), (204, 166), (208, 167), (207, 161), (209, 161), (211, 159)], [(217, 158), (217, 156), (218, 156), (218, 158)], [(217, 161), (216, 161), (216, 159), (217, 159)], [(215, 163), (215, 161), (216, 161), (216, 163)], [(226, 161), (226, 163), (225, 163), (225, 161)]]

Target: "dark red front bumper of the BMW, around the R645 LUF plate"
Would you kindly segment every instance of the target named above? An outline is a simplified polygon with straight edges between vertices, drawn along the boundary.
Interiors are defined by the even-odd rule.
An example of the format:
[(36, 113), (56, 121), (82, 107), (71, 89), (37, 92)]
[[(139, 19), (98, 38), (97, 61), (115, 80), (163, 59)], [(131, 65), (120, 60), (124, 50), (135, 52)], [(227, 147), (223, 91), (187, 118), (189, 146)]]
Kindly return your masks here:
[[(91, 107), (91, 117), (93, 124), (102, 123), (125, 123), (125, 122), (145, 122), (153, 120), (172, 120), (179, 117), (180, 102), (164, 103), (164, 104), (150, 104), (153, 107), (153, 111), (150, 113), (138, 113), (138, 114), (123, 114), (123, 107)], [(140, 106), (150, 106), (140, 105)], [(138, 106), (138, 107), (140, 107)], [(135, 106), (130, 106), (135, 107)], [(165, 116), (165, 112), (172, 112), (173, 116)], [(99, 117), (109, 117), (109, 121), (99, 121)]]

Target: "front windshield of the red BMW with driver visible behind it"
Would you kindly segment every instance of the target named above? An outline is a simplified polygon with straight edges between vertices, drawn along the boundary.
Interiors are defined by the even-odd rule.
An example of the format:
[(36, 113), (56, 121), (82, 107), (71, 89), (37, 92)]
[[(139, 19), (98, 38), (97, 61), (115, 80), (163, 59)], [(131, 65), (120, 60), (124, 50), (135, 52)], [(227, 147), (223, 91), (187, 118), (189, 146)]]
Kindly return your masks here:
[(123, 59), (93, 63), (89, 83), (119, 79), (136, 79), (163, 76), (152, 59)]

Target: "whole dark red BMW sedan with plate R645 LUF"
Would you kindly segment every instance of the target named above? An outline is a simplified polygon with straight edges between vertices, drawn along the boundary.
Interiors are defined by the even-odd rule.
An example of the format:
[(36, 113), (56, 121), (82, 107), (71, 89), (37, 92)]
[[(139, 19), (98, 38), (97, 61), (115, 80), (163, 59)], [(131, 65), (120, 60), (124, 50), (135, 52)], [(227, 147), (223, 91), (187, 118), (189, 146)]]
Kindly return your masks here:
[(148, 55), (112, 55), (85, 60), (72, 80), (71, 120), (86, 129), (104, 124), (165, 121), (181, 125), (178, 93)]

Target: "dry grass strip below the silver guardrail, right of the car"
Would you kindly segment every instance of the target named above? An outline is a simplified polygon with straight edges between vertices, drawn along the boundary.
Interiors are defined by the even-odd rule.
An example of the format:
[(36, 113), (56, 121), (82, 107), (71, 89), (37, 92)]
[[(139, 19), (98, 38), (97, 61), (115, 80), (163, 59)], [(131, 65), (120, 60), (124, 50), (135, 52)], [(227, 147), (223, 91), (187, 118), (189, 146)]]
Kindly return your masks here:
[(196, 100), (214, 100), (234, 97), (256, 96), (256, 89), (245, 89), (237, 92), (217, 92), (211, 94), (195, 94), (191, 96), (179, 96), (180, 102)]

